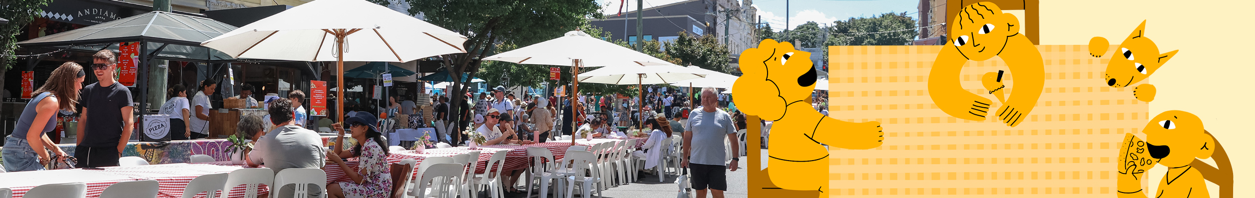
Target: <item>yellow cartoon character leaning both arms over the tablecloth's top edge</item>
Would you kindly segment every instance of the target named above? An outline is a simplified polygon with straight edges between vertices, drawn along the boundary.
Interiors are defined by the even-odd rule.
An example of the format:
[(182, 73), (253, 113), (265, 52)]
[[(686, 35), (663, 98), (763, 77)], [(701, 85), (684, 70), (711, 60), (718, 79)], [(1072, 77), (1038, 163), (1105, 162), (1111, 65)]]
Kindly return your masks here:
[[(929, 73), (929, 96), (941, 112), (968, 120), (985, 120), (994, 113), (1007, 125), (1024, 122), (1045, 85), (1042, 53), (1033, 41), (1019, 34), (1019, 19), (1003, 13), (993, 3), (976, 3), (958, 11), (950, 26), (950, 41), (937, 53)], [(959, 71), (968, 60), (989, 60), (999, 56), (1015, 74), (1015, 91), (996, 112), (993, 102), (964, 90)], [(988, 75), (986, 75), (988, 76)], [(1000, 84), (1000, 83), (999, 83)]]

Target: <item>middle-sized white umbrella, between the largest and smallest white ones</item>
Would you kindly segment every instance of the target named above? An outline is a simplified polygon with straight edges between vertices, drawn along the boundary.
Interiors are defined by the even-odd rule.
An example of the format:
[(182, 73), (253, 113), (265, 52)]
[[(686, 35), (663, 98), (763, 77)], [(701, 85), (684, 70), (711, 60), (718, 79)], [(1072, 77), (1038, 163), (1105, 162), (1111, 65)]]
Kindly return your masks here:
[[(589, 36), (589, 34), (580, 30), (567, 31), (561, 38), (492, 55), (483, 60), (574, 66), (575, 69), (572, 69), (571, 75), (575, 76), (572, 79), (576, 79), (576, 81), (571, 84), (572, 98), (580, 90), (579, 70), (582, 66), (675, 66), (675, 64), (666, 60)], [(571, 119), (572, 125), (575, 120), (577, 119)], [(571, 139), (571, 144), (575, 144), (575, 139)]]

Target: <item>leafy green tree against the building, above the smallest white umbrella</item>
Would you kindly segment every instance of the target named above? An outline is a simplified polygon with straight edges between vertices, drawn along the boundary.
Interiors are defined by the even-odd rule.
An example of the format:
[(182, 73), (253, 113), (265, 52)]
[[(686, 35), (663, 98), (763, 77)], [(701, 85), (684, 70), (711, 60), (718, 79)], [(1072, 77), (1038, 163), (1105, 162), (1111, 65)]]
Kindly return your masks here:
[(714, 35), (698, 36), (680, 33), (679, 38), (663, 43), (663, 46), (666, 48), (666, 55), (679, 60), (676, 65), (697, 65), (702, 69), (730, 73), (728, 45), (719, 44)]

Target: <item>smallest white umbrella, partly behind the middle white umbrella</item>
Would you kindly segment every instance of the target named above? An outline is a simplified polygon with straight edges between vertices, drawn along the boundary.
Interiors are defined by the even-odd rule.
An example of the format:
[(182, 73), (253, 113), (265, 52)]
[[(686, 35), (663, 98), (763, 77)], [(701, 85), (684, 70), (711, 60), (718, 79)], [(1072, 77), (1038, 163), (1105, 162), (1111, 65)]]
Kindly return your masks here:
[[(584, 73), (584, 76), (579, 80), (599, 84), (636, 84), (640, 88), (641, 95), (645, 95), (644, 84), (671, 84), (681, 80), (700, 79), (707, 76), (704, 73), (707, 71), (675, 65), (605, 66)], [(645, 96), (641, 96), (640, 100), (641, 105), (638, 105), (638, 110), (644, 112)], [(645, 118), (640, 118), (640, 120), (645, 120)]]

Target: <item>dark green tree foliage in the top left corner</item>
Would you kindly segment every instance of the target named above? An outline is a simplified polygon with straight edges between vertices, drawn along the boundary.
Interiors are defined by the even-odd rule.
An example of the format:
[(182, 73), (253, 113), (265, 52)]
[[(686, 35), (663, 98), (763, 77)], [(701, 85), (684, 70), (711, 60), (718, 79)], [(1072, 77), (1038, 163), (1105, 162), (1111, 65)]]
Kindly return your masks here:
[(0, 25), (0, 54), (9, 54), (0, 55), (0, 88), (4, 88), (5, 73), (18, 60), (16, 56), (10, 56), (18, 51), (18, 34), (43, 13), (40, 6), (48, 3), (51, 0), (0, 0), (0, 18), (9, 20), (9, 24)]

